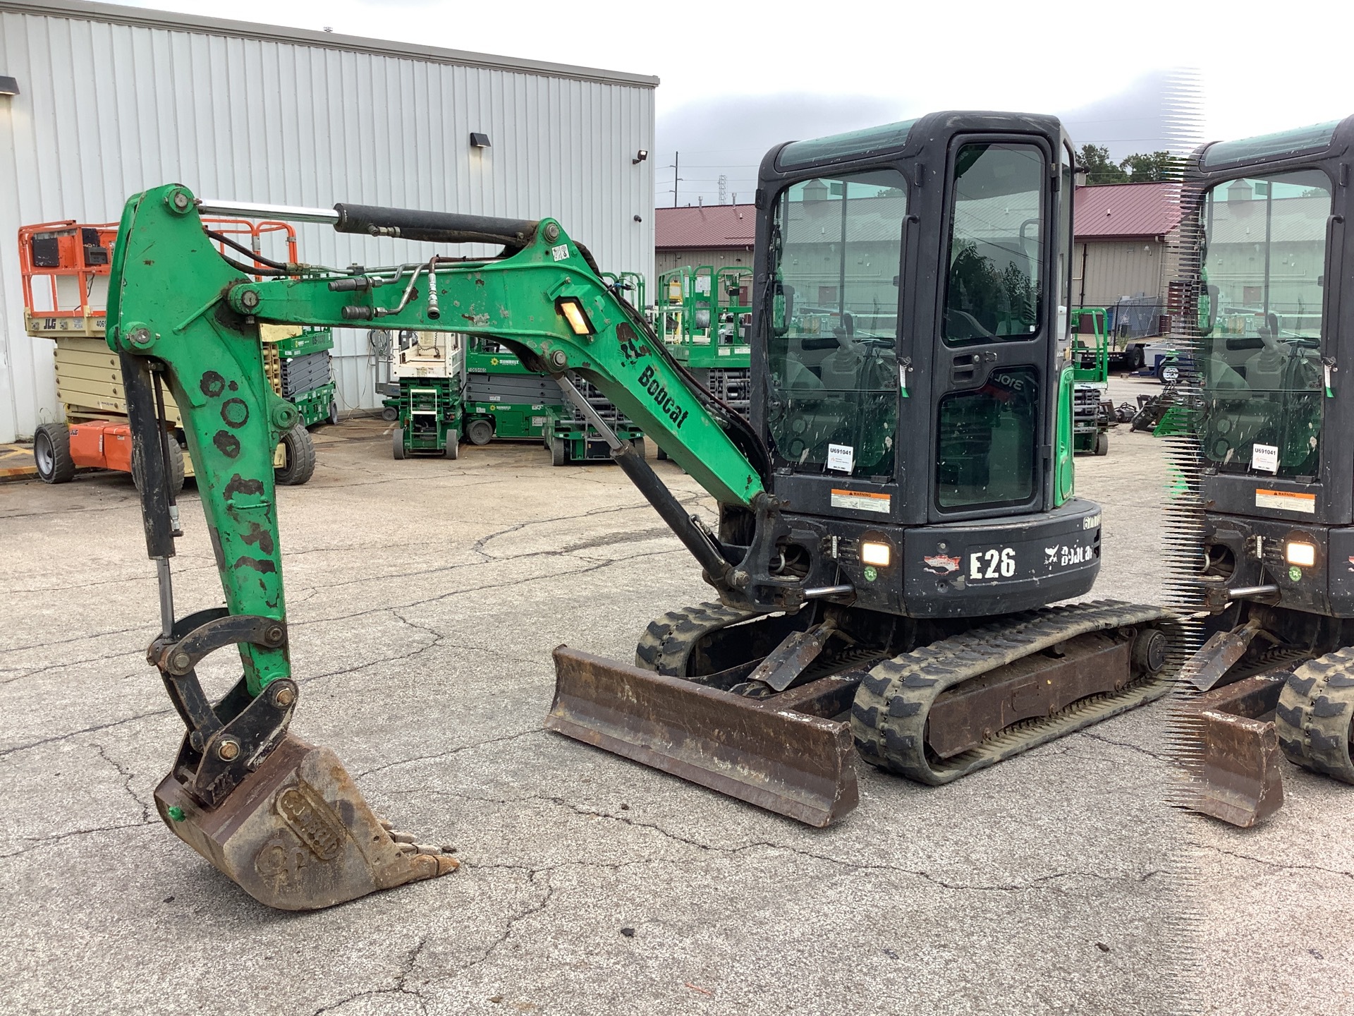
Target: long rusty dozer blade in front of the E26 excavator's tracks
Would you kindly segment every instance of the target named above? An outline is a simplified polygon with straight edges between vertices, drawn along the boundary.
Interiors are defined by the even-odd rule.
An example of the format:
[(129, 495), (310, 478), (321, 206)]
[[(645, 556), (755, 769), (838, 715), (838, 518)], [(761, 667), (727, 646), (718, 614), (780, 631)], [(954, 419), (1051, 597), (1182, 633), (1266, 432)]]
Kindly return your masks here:
[(567, 646), (555, 650), (546, 729), (807, 825), (830, 825), (858, 802), (849, 723)]

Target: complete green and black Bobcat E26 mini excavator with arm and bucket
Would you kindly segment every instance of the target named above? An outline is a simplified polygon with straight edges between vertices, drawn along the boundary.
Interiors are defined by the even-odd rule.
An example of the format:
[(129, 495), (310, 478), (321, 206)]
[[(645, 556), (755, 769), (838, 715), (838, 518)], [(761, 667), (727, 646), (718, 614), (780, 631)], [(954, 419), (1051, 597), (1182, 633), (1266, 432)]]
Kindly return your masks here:
[[(295, 423), (261, 322), (483, 336), (551, 375), (703, 569), (636, 665), (561, 648), (547, 727), (812, 825), (854, 807), (854, 749), (945, 783), (1166, 691), (1169, 620), (1090, 591), (1101, 512), (1072, 492), (1072, 149), (1056, 119), (945, 112), (770, 152), (757, 191), (750, 419), (712, 397), (554, 219), (133, 196), (114, 256), (150, 646), (187, 726), (161, 817), (272, 906), (326, 906), (455, 863), (391, 834), (337, 757), (288, 733), (272, 448)], [(501, 244), (389, 270), (218, 253), (200, 215)], [(257, 278), (267, 275), (267, 278)], [(590, 382), (719, 504), (718, 531), (594, 419)], [(226, 606), (180, 616), (164, 389), (183, 416)], [(238, 646), (211, 704), (195, 676)], [(853, 749), (854, 745), (854, 749)]]

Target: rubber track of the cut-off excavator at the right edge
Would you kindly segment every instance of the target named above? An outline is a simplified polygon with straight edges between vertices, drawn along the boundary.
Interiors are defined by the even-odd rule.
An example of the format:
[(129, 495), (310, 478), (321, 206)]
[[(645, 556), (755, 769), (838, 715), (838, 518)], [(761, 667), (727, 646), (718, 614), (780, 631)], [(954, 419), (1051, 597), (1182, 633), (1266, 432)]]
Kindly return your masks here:
[(1350, 719), (1354, 717), (1354, 648), (1303, 664), (1284, 683), (1274, 710), (1278, 746), (1294, 765), (1354, 783)]

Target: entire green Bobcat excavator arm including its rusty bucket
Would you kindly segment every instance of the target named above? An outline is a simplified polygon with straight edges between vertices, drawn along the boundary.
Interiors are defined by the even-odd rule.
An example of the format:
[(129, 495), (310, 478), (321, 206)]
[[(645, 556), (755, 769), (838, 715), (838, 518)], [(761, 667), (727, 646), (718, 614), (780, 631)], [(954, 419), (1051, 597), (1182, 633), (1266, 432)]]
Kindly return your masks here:
[[(795, 610), (815, 595), (774, 574), (779, 505), (764, 489), (765, 451), (668, 355), (643, 317), (608, 286), (558, 222), (527, 222), (338, 205), (291, 218), (443, 244), (502, 244), (489, 259), (429, 256), (345, 270), (221, 255), (206, 205), (185, 187), (133, 196), (114, 252), (108, 344), (121, 355), (142, 492), (146, 546), (160, 577), (161, 633), (149, 658), (187, 726), (156, 799), (185, 841), (274, 906), (325, 906), (454, 867), (433, 848), (389, 833), (338, 760), (287, 733), (299, 688), (288, 661), (272, 448), (297, 421), (264, 371), (261, 322), (443, 331), (506, 343), (552, 375), (585, 413), (585, 378), (722, 504), (756, 513), (746, 547), (722, 545), (605, 424), (613, 457), (700, 562), (730, 607)], [(238, 206), (229, 209), (238, 214)], [(287, 210), (256, 209), (271, 218)], [(180, 618), (169, 559), (179, 535), (167, 482), (164, 391), (183, 420), (226, 607)], [(207, 702), (194, 668), (237, 646), (244, 676)]]

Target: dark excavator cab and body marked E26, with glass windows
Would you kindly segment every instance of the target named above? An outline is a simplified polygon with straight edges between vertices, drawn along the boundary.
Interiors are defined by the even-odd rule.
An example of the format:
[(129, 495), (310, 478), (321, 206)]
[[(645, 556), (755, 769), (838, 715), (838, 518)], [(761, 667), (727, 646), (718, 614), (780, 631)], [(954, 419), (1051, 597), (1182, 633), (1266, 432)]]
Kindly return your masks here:
[[(812, 585), (949, 618), (1091, 588), (1099, 509), (1072, 497), (1066, 439), (1071, 200), (1051, 117), (933, 114), (762, 160), (751, 416)], [(722, 536), (746, 526), (728, 511)]]

